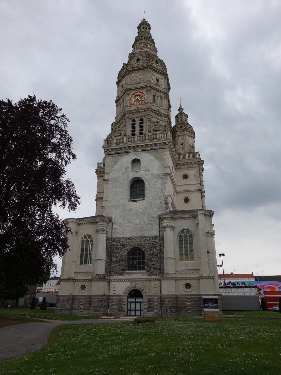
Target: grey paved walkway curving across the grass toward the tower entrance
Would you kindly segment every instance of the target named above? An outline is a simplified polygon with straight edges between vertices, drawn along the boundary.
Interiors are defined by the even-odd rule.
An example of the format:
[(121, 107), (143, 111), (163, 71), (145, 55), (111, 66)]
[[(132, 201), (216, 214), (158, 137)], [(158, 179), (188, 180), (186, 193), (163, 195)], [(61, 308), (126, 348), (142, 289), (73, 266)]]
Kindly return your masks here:
[(82, 319), (71, 321), (50, 321), (49, 323), (24, 323), (0, 328), (0, 362), (24, 356), (41, 349), (50, 332), (62, 324), (108, 323), (129, 321), (126, 318)]

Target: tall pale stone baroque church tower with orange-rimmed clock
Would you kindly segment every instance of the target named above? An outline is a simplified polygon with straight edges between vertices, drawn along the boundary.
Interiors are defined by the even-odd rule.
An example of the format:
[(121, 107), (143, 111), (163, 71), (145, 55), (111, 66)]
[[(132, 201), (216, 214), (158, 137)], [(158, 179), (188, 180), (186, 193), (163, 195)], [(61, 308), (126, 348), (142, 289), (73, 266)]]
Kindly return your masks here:
[(117, 77), (116, 117), (97, 163), (96, 215), (66, 219), (57, 312), (197, 315), (218, 296), (212, 216), (203, 160), (143, 18)]

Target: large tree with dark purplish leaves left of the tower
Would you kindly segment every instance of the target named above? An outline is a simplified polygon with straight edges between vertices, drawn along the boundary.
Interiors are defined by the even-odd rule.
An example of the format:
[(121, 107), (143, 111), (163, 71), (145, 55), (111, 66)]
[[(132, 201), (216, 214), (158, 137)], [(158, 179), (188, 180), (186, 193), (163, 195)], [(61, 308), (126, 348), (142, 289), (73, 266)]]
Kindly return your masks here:
[(66, 166), (75, 160), (69, 120), (52, 101), (35, 95), (0, 101), (0, 283), (36, 283), (56, 270), (68, 249), (53, 207), (75, 210), (79, 196)]

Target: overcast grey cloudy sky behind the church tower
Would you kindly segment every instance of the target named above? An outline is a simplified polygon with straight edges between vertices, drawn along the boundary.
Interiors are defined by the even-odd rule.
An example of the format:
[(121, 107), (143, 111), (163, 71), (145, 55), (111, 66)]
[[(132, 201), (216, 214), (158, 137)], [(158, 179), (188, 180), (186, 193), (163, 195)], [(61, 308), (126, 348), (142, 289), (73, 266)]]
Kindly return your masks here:
[(0, 0), (0, 98), (35, 93), (70, 119), (77, 160), (67, 177), (81, 205), (60, 216), (95, 214), (117, 74), (144, 10), (169, 74), (172, 124), (181, 96), (205, 162), (225, 273), (280, 275), (280, 0)]

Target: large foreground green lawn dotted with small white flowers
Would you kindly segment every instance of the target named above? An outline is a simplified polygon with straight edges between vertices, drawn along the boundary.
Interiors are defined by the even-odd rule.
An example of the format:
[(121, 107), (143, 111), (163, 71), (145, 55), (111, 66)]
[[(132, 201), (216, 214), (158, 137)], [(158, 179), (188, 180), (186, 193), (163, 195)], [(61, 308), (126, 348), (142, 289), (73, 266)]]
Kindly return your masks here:
[(57, 327), (36, 353), (0, 374), (279, 374), (281, 321), (160, 318), (153, 324)]

